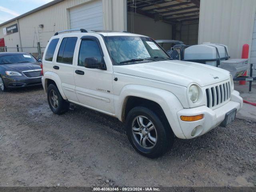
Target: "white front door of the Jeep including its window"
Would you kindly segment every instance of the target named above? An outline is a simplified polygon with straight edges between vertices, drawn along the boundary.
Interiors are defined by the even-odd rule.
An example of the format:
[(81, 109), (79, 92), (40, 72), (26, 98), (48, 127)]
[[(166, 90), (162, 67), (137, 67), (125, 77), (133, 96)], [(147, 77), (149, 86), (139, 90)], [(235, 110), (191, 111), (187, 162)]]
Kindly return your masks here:
[(101, 70), (84, 67), (84, 60), (89, 57), (104, 62), (100, 43), (92, 36), (80, 40), (78, 59), (74, 67), (77, 98), (81, 104), (113, 114), (112, 69)]

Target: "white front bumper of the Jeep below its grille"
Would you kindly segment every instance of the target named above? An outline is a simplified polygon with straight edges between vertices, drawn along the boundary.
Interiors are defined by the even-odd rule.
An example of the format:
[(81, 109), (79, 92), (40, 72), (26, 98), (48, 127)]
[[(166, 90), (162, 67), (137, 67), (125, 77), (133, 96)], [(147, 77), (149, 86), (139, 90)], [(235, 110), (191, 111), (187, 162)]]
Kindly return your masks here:
[[(242, 108), (243, 99), (239, 96), (239, 92), (233, 91), (231, 99), (229, 102), (216, 108), (214, 110), (208, 108), (207, 106), (200, 106), (189, 109), (182, 109), (177, 112), (177, 117), (180, 123), (180, 127), (186, 139), (195, 138), (205, 134), (206, 132), (212, 130), (216, 126), (220, 125), (221, 122), (225, 119), (225, 115), (230, 110), (236, 108), (237, 111)], [(204, 118), (197, 121), (182, 121), (180, 116), (195, 116), (199, 114), (204, 114)], [(196, 134), (191, 136), (192, 130), (198, 126)]]

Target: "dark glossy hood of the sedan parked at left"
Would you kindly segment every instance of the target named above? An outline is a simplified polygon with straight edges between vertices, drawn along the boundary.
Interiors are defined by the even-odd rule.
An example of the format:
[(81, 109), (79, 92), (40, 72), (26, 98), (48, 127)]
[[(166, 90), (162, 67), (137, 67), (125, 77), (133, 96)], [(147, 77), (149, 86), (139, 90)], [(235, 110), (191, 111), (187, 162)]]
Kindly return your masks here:
[(41, 69), (39, 62), (28, 62), (28, 63), (13, 63), (13, 64), (2, 64), (1, 67), (5, 68), (8, 71), (14, 70), (16, 72), (28, 71)]

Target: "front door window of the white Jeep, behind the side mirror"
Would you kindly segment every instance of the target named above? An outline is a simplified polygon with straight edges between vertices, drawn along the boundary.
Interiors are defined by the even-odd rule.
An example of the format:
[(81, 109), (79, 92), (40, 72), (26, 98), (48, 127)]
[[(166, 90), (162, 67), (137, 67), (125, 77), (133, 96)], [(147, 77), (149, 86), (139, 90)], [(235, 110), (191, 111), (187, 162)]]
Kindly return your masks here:
[(84, 60), (88, 57), (96, 57), (98, 62), (102, 62), (100, 47), (94, 40), (82, 40), (78, 56), (78, 66), (84, 66)]

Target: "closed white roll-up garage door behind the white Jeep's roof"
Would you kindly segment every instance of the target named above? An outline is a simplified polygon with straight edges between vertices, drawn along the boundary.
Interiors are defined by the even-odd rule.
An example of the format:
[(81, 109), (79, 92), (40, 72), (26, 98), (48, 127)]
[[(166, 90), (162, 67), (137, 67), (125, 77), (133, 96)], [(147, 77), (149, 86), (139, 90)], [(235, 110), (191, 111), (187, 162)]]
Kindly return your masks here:
[(81, 6), (71, 8), (70, 28), (86, 30), (103, 29), (102, 0), (95, 0)]

